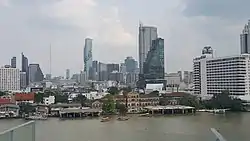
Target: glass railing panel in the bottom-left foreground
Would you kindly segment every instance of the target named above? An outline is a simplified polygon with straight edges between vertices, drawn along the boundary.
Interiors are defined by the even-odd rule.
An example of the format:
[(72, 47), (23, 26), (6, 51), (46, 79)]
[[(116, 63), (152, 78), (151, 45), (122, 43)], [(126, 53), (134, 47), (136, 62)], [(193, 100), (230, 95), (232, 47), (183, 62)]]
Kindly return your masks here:
[(35, 121), (1, 132), (0, 141), (35, 141)]

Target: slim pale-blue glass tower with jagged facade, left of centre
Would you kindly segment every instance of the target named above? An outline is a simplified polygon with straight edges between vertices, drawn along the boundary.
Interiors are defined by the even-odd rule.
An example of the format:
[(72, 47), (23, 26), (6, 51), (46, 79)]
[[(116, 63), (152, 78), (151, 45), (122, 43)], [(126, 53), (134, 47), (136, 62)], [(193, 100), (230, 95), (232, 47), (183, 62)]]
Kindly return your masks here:
[(92, 39), (86, 38), (84, 45), (84, 72), (86, 78), (89, 79), (89, 74), (92, 68)]

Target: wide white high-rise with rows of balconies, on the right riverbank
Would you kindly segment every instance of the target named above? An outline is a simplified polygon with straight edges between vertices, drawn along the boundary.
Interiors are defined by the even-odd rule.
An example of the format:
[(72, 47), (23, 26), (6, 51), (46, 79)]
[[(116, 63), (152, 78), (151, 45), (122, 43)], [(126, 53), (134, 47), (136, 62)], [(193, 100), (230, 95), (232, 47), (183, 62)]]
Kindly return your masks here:
[(193, 60), (194, 94), (201, 97), (228, 90), (231, 95), (250, 94), (250, 55), (212, 58), (207, 55)]

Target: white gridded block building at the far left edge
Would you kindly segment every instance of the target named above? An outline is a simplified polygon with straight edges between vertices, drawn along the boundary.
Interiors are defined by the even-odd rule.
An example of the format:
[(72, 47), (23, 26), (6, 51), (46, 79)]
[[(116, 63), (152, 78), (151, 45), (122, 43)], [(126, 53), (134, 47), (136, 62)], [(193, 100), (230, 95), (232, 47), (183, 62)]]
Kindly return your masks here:
[(20, 70), (0, 68), (0, 91), (20, 90)]

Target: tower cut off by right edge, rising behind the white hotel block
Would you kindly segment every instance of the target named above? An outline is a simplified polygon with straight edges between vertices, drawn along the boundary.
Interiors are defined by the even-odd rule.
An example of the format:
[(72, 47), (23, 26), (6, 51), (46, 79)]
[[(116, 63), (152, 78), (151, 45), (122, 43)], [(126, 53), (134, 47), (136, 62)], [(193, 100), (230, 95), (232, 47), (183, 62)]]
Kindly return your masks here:
[(246, 24), (240, 34), (240, 51), (241, 54), (250, 53), (250, 37), (249, 37), (249, 27), (250, 20)]

